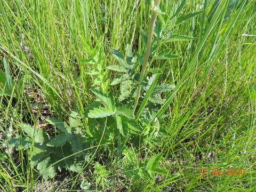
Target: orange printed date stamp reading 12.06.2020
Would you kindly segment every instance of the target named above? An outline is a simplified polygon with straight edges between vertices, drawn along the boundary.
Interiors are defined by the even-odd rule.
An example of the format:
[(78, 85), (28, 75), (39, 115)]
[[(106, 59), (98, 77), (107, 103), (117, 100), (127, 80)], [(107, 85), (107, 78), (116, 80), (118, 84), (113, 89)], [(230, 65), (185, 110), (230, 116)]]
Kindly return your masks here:
[[(209, 175), (207, 168), (198, 169), (199, 175)], [(245, 169), (212, 169), (210, 171), (212, 175), (244, 175)]]

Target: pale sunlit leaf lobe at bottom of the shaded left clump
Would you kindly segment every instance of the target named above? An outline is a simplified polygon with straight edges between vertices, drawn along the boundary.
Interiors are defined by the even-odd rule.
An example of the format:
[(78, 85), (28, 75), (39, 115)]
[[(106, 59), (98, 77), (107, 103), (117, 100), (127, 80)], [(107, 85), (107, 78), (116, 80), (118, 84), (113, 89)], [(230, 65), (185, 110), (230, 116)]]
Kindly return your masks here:
[(43, 179), (46, 181), (48, 178), (53, 178), (55, 176), (54, 167), (50, 166), (50, 157), (45, 158), (43, 161), (37, 164), (37, 170), (43, 176)]

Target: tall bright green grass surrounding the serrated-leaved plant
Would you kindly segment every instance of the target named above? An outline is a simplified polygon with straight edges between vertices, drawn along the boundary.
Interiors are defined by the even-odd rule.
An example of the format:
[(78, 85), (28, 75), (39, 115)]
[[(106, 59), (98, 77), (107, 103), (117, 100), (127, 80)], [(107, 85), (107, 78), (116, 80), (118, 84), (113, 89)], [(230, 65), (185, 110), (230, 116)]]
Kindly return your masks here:
[[(85, 119), (85, 108), (95, 100), (90, 89), (99, 78), (88, 73), (119, 65), (110, 48), (124, 53), (129, 44), (133, 52), (145, 53), (140, 33), (148, 29), (150, 6), (139, 0), (1, 1), (0, 69), (5, 71), (5, 58), (13, 89), (0, 98), (0, 191), (83, 191), (83, 179), (92, 183), (92, 191), (256, 191), (256, 43), (254, 36), (242, 36), (256, 35), (256, 1), (230, 1), (241, 4), (228, 10), (229, 17), (228, 1), (200, 2), (187, 1), (181, 13), (202, 9), (202, 14), (171, 29), (196, 39), (160, 47), (178, 59), (149, 62), (151, 68), (165, 66), (158, 83), (176, 87), (143, 124), (139, 142), (133, 145), (129, 138), (121, 163), (113, 146), (98, 143), (91, 146), (83, 174), (62, 170), (44, 181), (29, 165), (31, 151), (7, 153), (7, 141), (24, 134), (21, 123), (37, 126), (38, 119), (50, 117), (67, 122), (71, 111)], [(180, 3), (162, 1), (162, 17), (170, 21)], [(98, 62), (89, 62), (92, 58)], [(100, 78), (113, 81), (117, 75), (106, 69)], [(0, 85), (2, 93), (7, 85)], [(119, 87), (107, 92), (119, 95)], [(44, 131), (59, 133), (53, 127)], [(141, 167), (155, 154), (163, 155), (160, 166), (167, 175), (134, 179), (123, 174), (125, 166)], [(198, 169), (206, 167), (209, 174), (199, 175)], [(211, 174), (218, 168), (246, 172)]]

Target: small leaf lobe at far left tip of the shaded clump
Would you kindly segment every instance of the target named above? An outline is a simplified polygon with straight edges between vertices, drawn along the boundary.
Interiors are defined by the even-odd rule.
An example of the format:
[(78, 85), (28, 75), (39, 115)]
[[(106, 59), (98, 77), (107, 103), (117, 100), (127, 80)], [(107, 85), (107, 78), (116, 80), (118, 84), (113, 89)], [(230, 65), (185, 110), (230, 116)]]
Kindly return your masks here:
[(31, 139), (29, 137), (16, 136), (8, 141), (9, 147), (17, 147), (18, 150), (30, 148)]

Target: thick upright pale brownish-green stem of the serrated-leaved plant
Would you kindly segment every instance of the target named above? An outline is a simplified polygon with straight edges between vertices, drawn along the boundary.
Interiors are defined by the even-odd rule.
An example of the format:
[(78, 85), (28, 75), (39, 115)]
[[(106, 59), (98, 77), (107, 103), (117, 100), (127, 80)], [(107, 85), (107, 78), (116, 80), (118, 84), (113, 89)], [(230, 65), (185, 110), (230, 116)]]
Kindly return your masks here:
[(140, 72), (140, 82), (138, 85), (138, 92), (137, 92), (137, 95), (136, 95), (136, 98), (134, 101), (133, 114), (135, 113), (135, 110), (136, 110), (136, 107), (138, 105), (138, 101), (140, 98), (141, 83), (142, 83), (144, 75), (145, 75), (145, 71), (146, 71), (146, 67), (147, 67), (147, 63), (148, 63), (148, 59), (149, 59), (149, 55), (150, 55), (151, 45), (152, 45), (152, 41), (153, 41), (153, 33), (154, 33), (155, 22), (156, 22), (156, 17), (157, 17), (157, 11), (154, 8), (159, 6), (160, 1), (161, 0), (155, 0), (153, 9), (151, 11), (151, 17), (150, 17), (150, 21), (149, 21), (147, 49), (146, 49), (145, 58), (143, 60), (143, 65), (142, 65), (141, 72)]

